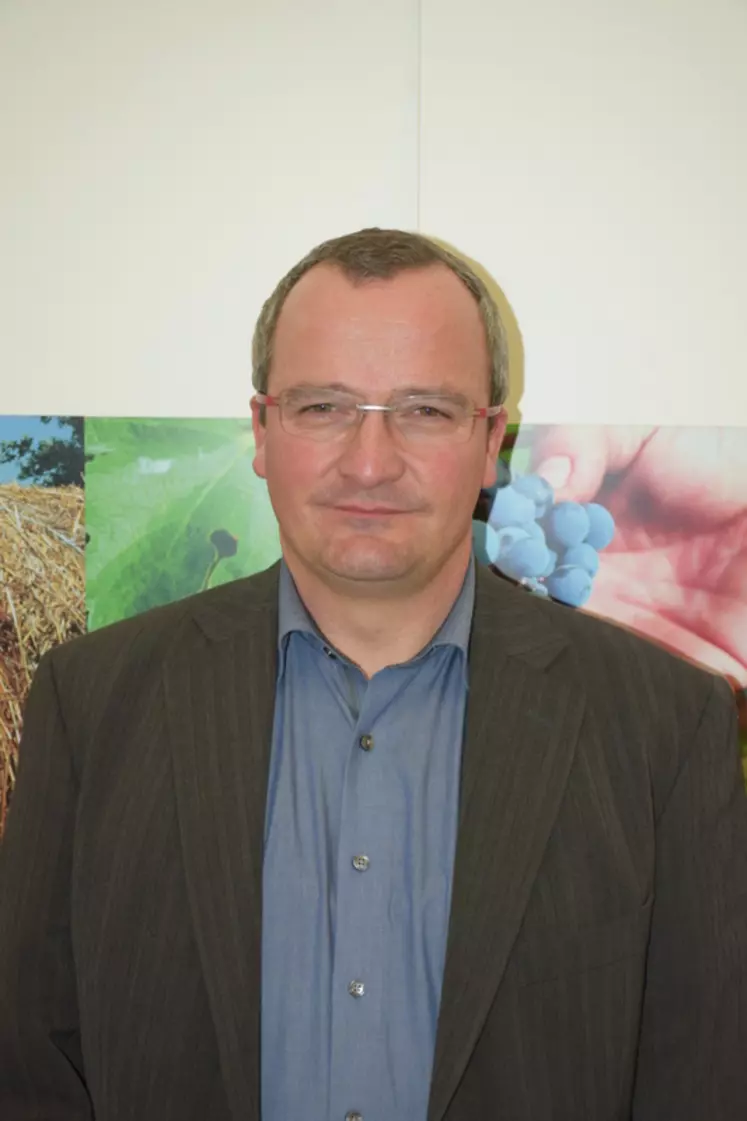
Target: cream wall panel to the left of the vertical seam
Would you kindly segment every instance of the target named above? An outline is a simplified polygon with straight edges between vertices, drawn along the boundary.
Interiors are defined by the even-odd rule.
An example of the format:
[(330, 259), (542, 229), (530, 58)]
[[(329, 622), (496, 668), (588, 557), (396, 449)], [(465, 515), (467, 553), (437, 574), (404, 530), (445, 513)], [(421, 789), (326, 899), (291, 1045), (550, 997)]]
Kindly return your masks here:
[(416, 0), (3, 0), (0, 414), (241, 416), (313, 244), (417, 223)]

